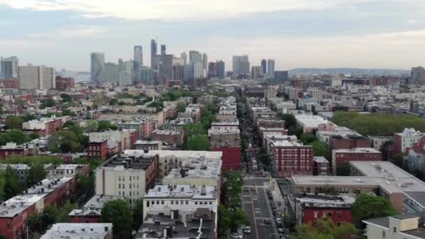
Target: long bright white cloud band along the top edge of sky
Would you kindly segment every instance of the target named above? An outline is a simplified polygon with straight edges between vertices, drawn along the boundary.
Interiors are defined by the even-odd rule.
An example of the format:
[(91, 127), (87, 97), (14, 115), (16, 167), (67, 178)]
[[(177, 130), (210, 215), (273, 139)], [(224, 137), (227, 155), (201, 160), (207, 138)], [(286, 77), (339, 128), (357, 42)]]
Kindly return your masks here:
[(72, 10), (84, 17), (199, 20), (284, 10), (322, 10), (338, 6), (353, 8), (352, 3), (365, 1), (372, 0), (0, 0), (0, 4), (15, 9)]

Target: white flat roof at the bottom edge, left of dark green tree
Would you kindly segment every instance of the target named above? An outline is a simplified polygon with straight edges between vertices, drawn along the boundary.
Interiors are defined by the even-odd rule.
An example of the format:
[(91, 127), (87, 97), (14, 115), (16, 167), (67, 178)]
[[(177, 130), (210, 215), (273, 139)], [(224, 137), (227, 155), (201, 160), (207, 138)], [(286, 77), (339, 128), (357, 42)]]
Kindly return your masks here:
[(40, 239), (104, 238), (111, 229), (112, 223), (57, 223), (53, 224)]

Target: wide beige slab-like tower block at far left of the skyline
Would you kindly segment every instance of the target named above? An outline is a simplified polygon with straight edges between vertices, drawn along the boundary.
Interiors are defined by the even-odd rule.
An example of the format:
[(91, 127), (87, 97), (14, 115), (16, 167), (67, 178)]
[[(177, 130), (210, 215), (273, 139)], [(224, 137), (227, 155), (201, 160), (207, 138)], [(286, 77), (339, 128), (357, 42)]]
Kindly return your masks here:
[(19, 66), (20, 89), (55, 89), (56, 71), (53, 67)]

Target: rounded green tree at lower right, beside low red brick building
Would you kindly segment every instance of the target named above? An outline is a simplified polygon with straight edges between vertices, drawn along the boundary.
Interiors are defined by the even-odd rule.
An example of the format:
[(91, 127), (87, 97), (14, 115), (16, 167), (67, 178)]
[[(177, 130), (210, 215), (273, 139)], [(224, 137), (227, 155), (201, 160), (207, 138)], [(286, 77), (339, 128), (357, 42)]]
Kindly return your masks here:
[(389, 217), (396, 215), (391, 202), (382, 196), (360, 194), (352, 205), (354, 222), (360, 223), (363, 219), (375, 217)]

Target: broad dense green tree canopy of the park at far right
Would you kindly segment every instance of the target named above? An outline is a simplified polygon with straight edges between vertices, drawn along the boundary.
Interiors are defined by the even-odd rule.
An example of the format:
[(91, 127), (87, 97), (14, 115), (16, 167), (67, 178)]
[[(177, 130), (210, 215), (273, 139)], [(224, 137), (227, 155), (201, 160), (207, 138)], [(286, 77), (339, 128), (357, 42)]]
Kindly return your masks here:
[(346, 126), (363, 135), (371, 136), (392, 136), (405, 128), (425, 131), (425, 119), (414, 115), (336, 112), (331, 121), (339, 126)]

